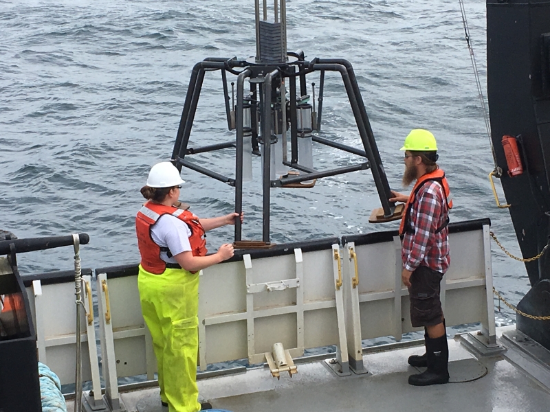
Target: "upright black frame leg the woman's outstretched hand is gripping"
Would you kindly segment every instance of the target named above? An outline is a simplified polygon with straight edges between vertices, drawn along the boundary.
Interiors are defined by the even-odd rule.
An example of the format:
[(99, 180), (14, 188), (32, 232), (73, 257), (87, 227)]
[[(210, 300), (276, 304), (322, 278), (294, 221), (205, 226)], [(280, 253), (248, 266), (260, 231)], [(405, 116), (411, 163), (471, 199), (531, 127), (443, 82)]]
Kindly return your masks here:
[[(244, 119), (244, 84), (252, 71), (244, 70), (236, 78), (236, 156), (235, 156), (235, 211), (241, 215), (243, 211), (243, 119)], [(235, 219), (235, 242), (241, 240), (241, 218)]]

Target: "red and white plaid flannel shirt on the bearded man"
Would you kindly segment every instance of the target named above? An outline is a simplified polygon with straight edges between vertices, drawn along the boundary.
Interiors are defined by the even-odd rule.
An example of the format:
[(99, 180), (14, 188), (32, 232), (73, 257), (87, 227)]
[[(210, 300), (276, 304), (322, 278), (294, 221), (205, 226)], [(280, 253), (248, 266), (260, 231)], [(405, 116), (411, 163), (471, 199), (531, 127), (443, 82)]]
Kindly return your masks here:
[(410, 225), (415, 233), (405, 232), (401, 260), (408, 271), (423, 264), (445, 273), (450, 264), (449, 229), (435, 231), (445, 223), (449, 209), (443, 187), (436, 181), (424, 183), (410, 208)]

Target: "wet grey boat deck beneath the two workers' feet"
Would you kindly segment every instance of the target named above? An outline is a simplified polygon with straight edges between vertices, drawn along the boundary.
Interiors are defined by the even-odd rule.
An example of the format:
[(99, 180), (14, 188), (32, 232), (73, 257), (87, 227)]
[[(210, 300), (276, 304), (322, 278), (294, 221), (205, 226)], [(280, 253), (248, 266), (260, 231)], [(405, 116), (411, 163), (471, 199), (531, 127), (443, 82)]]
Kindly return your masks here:
[[(510, 330), (514, 333), (514, 330)], [(502, 333), (503, 330), (500, 330)], [(364, 355), (369, 374), (338, 376), (325, 361), (298, 365), (298, 374), (281, 380), (269, 369), (249, 369), (246, 373), (199, 380), (201, 396), (214, 408), (229, 411), (404, 411), (425, 412), (445, 408), (446, 412), (545, 411), (550, 404), (548, 365), (533, 362), (509, 339), (499, 338), (507, 350), (498, 356), (476, 358), (459, 341), (450, 339), (450, 375), (453, 371), (472, 377), (480, 370), (487, 374), (470, 382), (430, 387), (412, 387), (407, 378), (417, 370), (407, 364), (411, 354), (423, 347), (405, 347)], [(464, 366), (463, 360), (469, 367)], [(461, 362), (456, 362), (461, 361)], [(481, 366), (483, 365), (483, 366)], [(534, 371), (529, 376), (527, 371)], [(166, 412), (160, 405), (159, 389), (122, 393), (127, 411)], [(72, 402), (69, 411), (72, 411)]]

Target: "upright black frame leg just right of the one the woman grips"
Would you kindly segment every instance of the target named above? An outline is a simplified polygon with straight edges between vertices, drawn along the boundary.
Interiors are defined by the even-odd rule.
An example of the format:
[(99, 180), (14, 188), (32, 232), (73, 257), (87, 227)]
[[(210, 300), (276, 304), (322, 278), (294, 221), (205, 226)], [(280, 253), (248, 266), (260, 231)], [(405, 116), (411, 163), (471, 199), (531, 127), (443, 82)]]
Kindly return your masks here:
[(263, 242), (270, 242), (270, 190), (271, 190), (271, 129), (272, 129), (272, 113), (271, 113), (271, 98), (272, 98), (272, 82), (273, 78), (278, 75), (278, 69), (267, 73), (265, 82), (263, 83)]

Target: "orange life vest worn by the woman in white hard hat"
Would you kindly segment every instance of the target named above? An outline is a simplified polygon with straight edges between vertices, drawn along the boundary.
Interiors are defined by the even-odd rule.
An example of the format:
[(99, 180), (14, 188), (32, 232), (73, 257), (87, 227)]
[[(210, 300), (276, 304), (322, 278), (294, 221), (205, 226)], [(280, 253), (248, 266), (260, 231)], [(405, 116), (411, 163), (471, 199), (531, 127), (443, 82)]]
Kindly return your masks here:
[(140, 249), (142, 256), (142, 267), (155, 275), (164, 273), (166, 267), (181, 268), (179, 264), (167, 264), (160, 258), (160, 252), (168, 252), (168, 258), (172, 255), (167, 247), (159, 247), (151, 238), (151, 227), (155, 225), (160, 216), (171, 214), (182, 220), (188, 225), (191, 236), (189, 243), (191, 244), (191, 252), (193, 256), (206, 255), (206, 240), (204, 239), (204, 229), (199, 222), (199, 218), (188, 210), (177, 209), (174, 206), (159, 205), (148, 201), (135, 216), (135, 231), (137, 233), (137, 247)]

